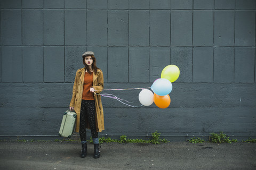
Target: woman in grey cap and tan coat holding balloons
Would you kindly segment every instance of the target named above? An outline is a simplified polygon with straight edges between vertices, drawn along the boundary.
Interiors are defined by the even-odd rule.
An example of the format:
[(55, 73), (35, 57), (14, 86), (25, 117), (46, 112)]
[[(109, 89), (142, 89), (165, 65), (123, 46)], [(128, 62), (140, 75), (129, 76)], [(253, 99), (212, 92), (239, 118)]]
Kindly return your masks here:
[[(77, 114), (76, 132), (79, 132), (82, 151), (81, 157), (87, 155), (86, 128), (91, 129), (94, 143), (94, 158), (100, 157), (98, 132), (104, 130), (103, 109), (99, 94), (103, 89), (103, 73), (96, 66), (93, 52), (83, 54), (85, 67), (78, 69), (73, 86), (73, 96), (69, 109)], [(96, 90), (96, 91), (95, 91)]]

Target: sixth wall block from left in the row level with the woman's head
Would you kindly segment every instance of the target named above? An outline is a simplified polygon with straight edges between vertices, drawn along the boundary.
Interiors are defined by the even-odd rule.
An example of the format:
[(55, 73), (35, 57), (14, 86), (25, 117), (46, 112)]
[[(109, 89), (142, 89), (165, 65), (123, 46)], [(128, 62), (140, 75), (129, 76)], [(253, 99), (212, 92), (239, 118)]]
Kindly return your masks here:
[(108, 47), (108, 82), (128, 82), (128, 47)]

